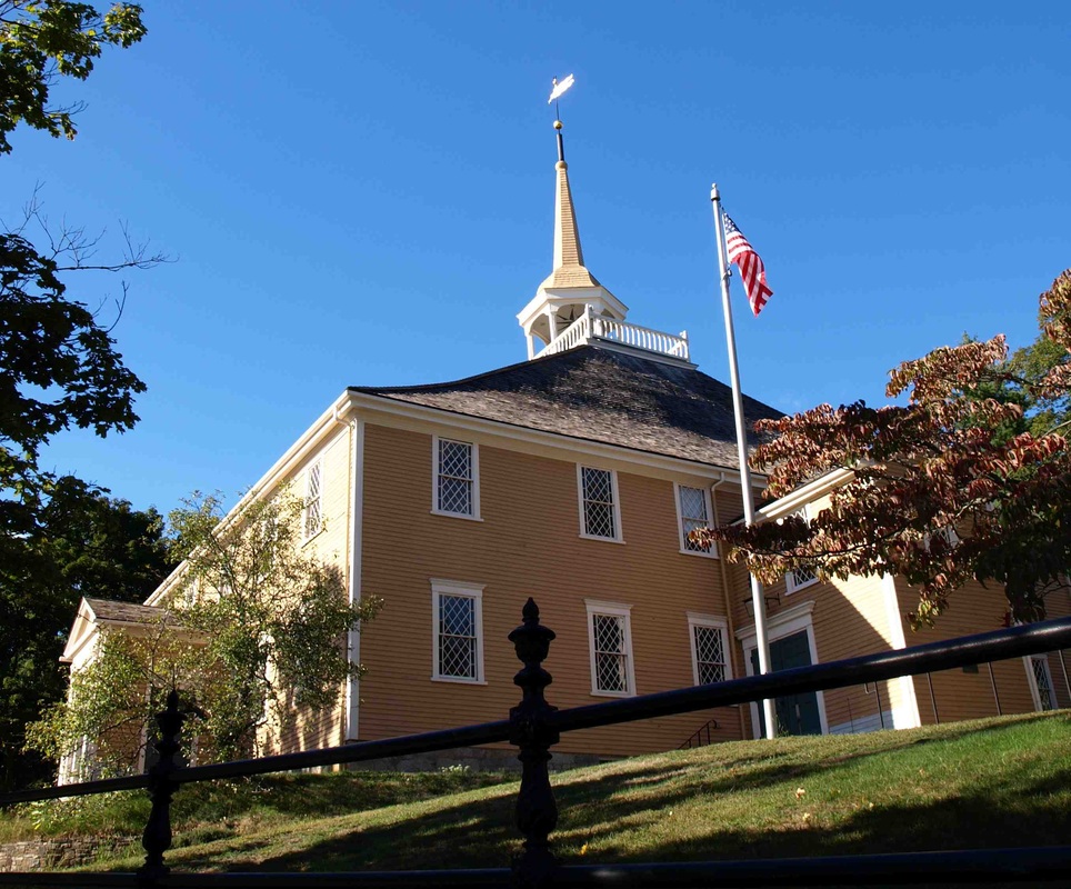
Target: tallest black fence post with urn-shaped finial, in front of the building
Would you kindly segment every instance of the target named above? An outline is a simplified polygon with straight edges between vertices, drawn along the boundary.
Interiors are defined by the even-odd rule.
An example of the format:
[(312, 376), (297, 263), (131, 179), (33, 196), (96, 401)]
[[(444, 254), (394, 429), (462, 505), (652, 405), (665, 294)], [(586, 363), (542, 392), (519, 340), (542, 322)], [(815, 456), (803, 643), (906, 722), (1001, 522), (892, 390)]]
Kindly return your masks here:
[(539, 607), (529, 598), (522, 611), (524, 620), (509, 639), (524, 667), (513, 677), (523, 692), (521, 702), (510, 709), (510, 743), (520, 748), (521, 790), (517, 797), (517, 826), (524, 835), (524, 850), (513, 859), (513, 879), (524, 889), (539, 889), (551, 883), (558, 859), (550, 850), (548, 836), (558, 825), (558, 805), (550, 787), (547, 763), (551, 745), (558, 743), (558, 731), (547, 718), (558, 708), (547, 703), (543, 689), (553, 679), (542, 668), (550, 651), (554, 631), (539, 622)]

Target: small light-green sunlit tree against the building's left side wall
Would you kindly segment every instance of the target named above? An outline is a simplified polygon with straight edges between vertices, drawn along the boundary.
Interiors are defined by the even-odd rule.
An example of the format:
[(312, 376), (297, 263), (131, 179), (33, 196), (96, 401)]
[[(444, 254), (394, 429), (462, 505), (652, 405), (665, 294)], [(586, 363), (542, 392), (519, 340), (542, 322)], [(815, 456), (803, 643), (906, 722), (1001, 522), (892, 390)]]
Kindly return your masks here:
[(84, 735), (102, 765), (129, 769), (140, 751), (109, 743), (109, 732), (144, 737), (172, 685), (196, 702), (200, 760), (254, 755), (301, 712), (338, 706), (346, 679), (364, 671), (350, 662), (347, 633), (380, 601), (351, 605), (337, 566), (302, 548), (303, 511), (288, 492), (252, 498), (226, 518), (218, 496), (174, 510), (173, 551), (186, 561), (159, 618), (111, 635), (72, 678), (69, 701), (34, 727), (36, 748), (61, 756)]

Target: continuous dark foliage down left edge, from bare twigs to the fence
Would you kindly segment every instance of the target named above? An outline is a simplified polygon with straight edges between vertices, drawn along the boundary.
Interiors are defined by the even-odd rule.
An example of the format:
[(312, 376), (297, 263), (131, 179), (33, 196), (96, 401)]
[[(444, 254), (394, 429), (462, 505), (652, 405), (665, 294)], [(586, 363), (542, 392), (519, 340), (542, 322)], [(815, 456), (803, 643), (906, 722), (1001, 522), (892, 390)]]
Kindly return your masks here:
[[(49, 249), (26, 237), (39, 222)], [(106, 491), (40, 468), (40, 452), (71, 427), (99, 436), (130, 429), (144, 384), (109, 331), (67, 296), (64, 272), (143, 268), (141, 248), (93, 266), (78, 230), (49, 234), (36, 206), (23, 228), (0, 233), (0, 782), (43, 777), (20, 750), (22, 727), (59, 700), (57, 658), (81, 595), (144, 598), (166, 572), (162, 521)]]

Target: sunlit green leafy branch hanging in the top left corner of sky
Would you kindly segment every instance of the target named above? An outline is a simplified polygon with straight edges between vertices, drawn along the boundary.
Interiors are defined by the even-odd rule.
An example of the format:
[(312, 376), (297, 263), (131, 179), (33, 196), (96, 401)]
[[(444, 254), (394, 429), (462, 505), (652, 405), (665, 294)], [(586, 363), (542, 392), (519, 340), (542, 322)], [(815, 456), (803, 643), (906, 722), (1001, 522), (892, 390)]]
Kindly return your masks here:
[(69, 0), (0, 0), (0, 154), (10, 153), (8, 134), (19, 123), (74, 138), (80, 107), (51, 107), (49, 89), (61, 77), (86, 80), (104, 47), (141, 40), (141, 12), (137, 3), (102, 13)]

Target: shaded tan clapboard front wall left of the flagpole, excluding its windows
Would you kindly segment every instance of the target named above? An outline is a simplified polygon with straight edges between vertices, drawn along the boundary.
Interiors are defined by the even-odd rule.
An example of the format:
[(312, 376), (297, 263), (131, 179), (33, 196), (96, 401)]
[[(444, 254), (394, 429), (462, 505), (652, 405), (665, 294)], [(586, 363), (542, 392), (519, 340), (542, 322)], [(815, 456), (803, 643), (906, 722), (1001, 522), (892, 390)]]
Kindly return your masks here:
[[(603, 700), (591, 695), (585, 599), (632, 606), (639, 693), (692, 685), (685, 612), (723, 617), (724, 595), (717, 560), (680, 552), (672, 481), (618, 472), (624, 543), (615, 543), (579, 537), (575, 460), (481, 441), (482, 521), (431, 513), (430, 432), (369, 423), (364, 460), (362, 590), (384, 608), (362, 633), (362, 740), (504, 718), (520, 668), (507, 636), (529, 596), (558, 633), (545, 663), (555, 706)], [(432, 578), (483, 586), (487, 685), (431, 680)], [(718, 737), (738, 737), (730, 709), (571, 733), (557, 749), (663, 750), (711, 717)]]

